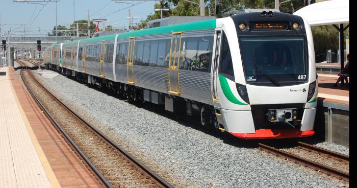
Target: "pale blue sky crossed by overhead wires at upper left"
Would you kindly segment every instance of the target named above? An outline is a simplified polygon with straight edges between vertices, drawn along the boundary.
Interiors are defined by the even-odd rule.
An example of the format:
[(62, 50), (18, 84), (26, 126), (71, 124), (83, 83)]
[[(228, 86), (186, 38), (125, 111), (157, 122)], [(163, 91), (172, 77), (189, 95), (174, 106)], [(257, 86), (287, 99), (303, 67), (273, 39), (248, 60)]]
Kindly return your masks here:
[[(154, 13), (154, 5), (157, 3), (155, 1), (115, 3), (110, 0), (60, 0), (57, 2), (58, 25), (69, 27), (73, 23), (73, 1), (75, 20), (87, 20), (87, 11), (89, 10), (90, 19), (108, 19), (106, 26), (111, 25), (114, 28), (128, 27), (129, 20), (126, 17), (129, 9), (132, 16), (138, 17), (133, 22), (139, 22), (141, 19), (146, 19), (148, 14)], [(42, 5), (0, 0), (0, 37), (4, 37), (10, 30), (12, 36), (21, 37), (24, 28), (27, 31), (27, 36), (45, 36), (47, 32), (50, 32), (56, 25), (56, 3), (36, 3)], [(134, 6), (131, 4), (134, 4)]]

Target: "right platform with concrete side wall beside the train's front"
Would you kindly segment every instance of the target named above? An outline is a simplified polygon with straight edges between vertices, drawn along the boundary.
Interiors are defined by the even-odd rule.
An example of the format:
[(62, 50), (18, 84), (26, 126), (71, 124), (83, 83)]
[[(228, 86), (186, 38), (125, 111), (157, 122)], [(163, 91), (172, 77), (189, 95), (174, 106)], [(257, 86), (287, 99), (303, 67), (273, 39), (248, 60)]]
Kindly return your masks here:
[[(339, 69), (338, 69), (339, 70)], [(319, 92), (314, 130), (317, 137), (349, 147), (349, 86), (332, 87), (337, 74), (317, 74)]]

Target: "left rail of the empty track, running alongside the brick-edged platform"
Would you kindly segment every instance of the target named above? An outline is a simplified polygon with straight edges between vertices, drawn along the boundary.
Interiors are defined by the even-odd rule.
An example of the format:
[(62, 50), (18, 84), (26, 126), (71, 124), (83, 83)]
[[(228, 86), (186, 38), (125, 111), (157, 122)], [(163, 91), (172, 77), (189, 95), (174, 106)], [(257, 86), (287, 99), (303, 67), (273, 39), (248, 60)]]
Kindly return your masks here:
[[(24, 65), (23, 62), (21, 61), (17, 61), (21, 66)], [(26, 67), (26, 71), (29, 70)], [(31, 74), (31, 73), (30, 73)], [(95, 174), (100, 178), (100, 180), (107, 186), (107, 187), (113, 187), (110, 182), (103, 176), (103, 174), (101, 174), (99, 172), (99, 170), (93, 165), (93, 163), (89, 160), (89, 158), (82, 152), (82, 150), (77, 146), (77, 144), (74, 143), (73, 139), (63, 130), (62, 126), (55, 120), (55, 118), (49, 113), (49, 111), (45, 108), (45, 106), (40, 102), (40, 100), (36, 97), (35, 93), (33, 92), (33, 90), (30, 88), (29, 83), (27, 82), (27, 80), (24, 78), (23, 76), (23, 72), (21, 69), (21, 78), (23, 83), (25, 84), (25, 86), (27, 87), (28, 91), (30, 92), (30, 94), (32, 95), (32, 97), (35, 99), (35, 101), (37, 102), (37, 104), (40, 105), (40, 107), (42, 108), (42, 110), (46, 113), (46, 115), (49, 117), (50, 121), (52, 121), (57, 128), (61, 131), (61, 133), (67, 138), (68, 142), (72, 145), (72, 147), (81, 155), (81, 157), (87, 162), (88, 166), (91, 168), (91, 170), (93, 170), (95, 172)]]

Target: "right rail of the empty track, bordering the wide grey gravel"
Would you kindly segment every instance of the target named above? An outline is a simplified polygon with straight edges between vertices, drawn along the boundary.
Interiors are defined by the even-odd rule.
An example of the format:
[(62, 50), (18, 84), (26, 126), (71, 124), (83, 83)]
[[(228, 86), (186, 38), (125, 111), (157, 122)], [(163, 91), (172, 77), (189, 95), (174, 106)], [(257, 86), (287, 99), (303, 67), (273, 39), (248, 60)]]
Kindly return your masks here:
[[(33, 75), (31, 75), (33, 77)], [(35, 78), (34, 80), (42, 86), (41, 83), (39, 83)], [(91, 128), (95, 133), (103, 137), (109, 144), (111, 144), (115, 149), (120, 151), (125, 157), (127, 157), (129, 160), (131, 160), (137, 167), (139, 167), (141, 170), (143, 170), (148, 176), (152, 177), (155, 181), (158, 182), (163, 187), (173, 187), (170, 183), (168, 183), (166, 180), (164, 180), (161, 176), (156, 174), (154, 171), (146, 167), (142, 162), (140, 162), (138, 159), (136, 159), (134, 156), (132, 156), (129, 152), (125, 151), (122, 147), (120, 147), (118, 144), (116, 144), (111, 138), (106, 136), (104, 133), (99, 131), (97, 128), (92, 126), (90, 123), (88, 123), (86, 120), (84, 120), (80, 115), (72, 111), (67, 105), (65, 105), (61, 100), (59, 100), (56, 96), (54, 96), (50, 91), (48, 91), (44, 86), (42, 86), (45, 91), (48, 92), (50, 96), (52, 96), (55, 100), (57, 100), (63, 107), (68, 109), (68, 111), (73, 114), (74, 116), (78, 117), (80, 121), (82, 121), (85, 125), (87, 125), (89, 128)]]

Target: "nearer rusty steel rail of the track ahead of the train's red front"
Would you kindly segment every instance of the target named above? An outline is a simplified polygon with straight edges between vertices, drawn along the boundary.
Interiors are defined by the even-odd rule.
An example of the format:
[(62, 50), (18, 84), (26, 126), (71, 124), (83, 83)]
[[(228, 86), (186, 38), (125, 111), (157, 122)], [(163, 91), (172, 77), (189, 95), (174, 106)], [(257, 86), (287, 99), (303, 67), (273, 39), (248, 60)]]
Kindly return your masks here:
[(349, 181), (349, 173), (328, 167), (326, 165), (322, 165), (318, 162), (294, 155), (292, 153), (289, 152), (285, 152), (283, 150), (279, 150), (276, 148), (273, 148), (271, 146), (267, 146), (265, 144), (259, 143), (259, 148), (261, 150), (264, 150), (268, 153), (273, 153), (276, 156), (282, 156), (285, 159), (290, 159), (292, 161), (294, 161), (295, 163), (300, 163), (301, 165), (303, 165), (304, 167), (310, 167), (312, 169), (314, 169), (315, 171), (322, 171), (325, 172), (327, 175), (332, 175), (335, 176), (339, 179), (343, 179), (345, 181)]

